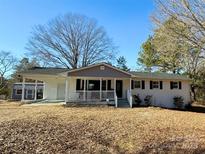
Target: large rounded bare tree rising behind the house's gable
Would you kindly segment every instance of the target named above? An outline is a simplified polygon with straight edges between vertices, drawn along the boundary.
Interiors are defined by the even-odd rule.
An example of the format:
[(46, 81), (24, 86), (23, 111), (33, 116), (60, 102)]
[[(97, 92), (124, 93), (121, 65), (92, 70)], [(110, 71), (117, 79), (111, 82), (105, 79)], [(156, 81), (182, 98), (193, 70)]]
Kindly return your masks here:
[(94, 19), (77, 14), (59, 16), (36, 26), (26, 48), (49, 65), (67, 68), (108, 61), (115, 55), (104, 28)]

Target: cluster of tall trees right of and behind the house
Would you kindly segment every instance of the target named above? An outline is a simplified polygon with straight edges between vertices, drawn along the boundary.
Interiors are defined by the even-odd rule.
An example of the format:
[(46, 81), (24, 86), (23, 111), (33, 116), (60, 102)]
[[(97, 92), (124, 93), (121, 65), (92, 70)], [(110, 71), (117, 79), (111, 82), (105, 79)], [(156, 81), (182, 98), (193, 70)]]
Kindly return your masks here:
[(194, 100), (205, 99), (205, 1), (155, 0), (154, 33), (142, 45), (138, 63), (147, 71), (185, 74)]

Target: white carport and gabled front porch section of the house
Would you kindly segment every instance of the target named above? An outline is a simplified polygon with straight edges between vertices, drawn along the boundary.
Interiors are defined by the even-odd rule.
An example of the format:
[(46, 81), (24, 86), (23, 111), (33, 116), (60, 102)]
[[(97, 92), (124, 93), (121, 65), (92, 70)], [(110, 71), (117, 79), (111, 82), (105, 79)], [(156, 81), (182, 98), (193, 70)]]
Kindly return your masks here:
[(87, 104), (112, 101), (118, 107), (118, 100), (126, 100), (132, 107), (132, 75), (106, 63), (74, 70), (37, 68), (21, 75), (24, 78), (22, 91), (25, 78), (43, 81), (43, 99), (48, 101)]

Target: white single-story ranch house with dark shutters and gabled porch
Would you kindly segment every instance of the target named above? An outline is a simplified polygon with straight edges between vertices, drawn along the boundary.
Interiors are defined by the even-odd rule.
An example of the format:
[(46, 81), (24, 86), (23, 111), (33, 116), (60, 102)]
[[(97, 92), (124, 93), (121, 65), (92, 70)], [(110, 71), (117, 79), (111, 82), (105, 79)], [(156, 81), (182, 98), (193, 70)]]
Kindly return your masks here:
[[(185, 103), (190, 100), (190, 79), (168, 73), (125, 72), (106, 63), (68, 70), (60, 68), (33, 68), (22, 72), (25, 79), (44, 82), (43, 99), (65, 102), (107, 103), (115, 106), (129, 103), (133, 95), (144, 100), (152, 96), (152, 104), (172, 108), (173, 98), (182, 96)], [(23, 86), (24, 87), (24, 86)], [(22, 91), (25, 91), (22, 88)], [(24, 101), (25, 97), (22, 97)]]

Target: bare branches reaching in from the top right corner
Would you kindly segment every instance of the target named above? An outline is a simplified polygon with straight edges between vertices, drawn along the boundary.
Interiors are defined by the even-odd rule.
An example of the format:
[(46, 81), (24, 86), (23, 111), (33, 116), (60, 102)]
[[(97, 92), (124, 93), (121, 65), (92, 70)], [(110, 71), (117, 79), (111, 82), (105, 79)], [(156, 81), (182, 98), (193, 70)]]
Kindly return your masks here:
[(152, 16), (157, 26), (172, 18), (188, 30), (173, 32), (191, 45), (205, 50), (205, 1), (204, 0), (155, 0), (157, 11)]

